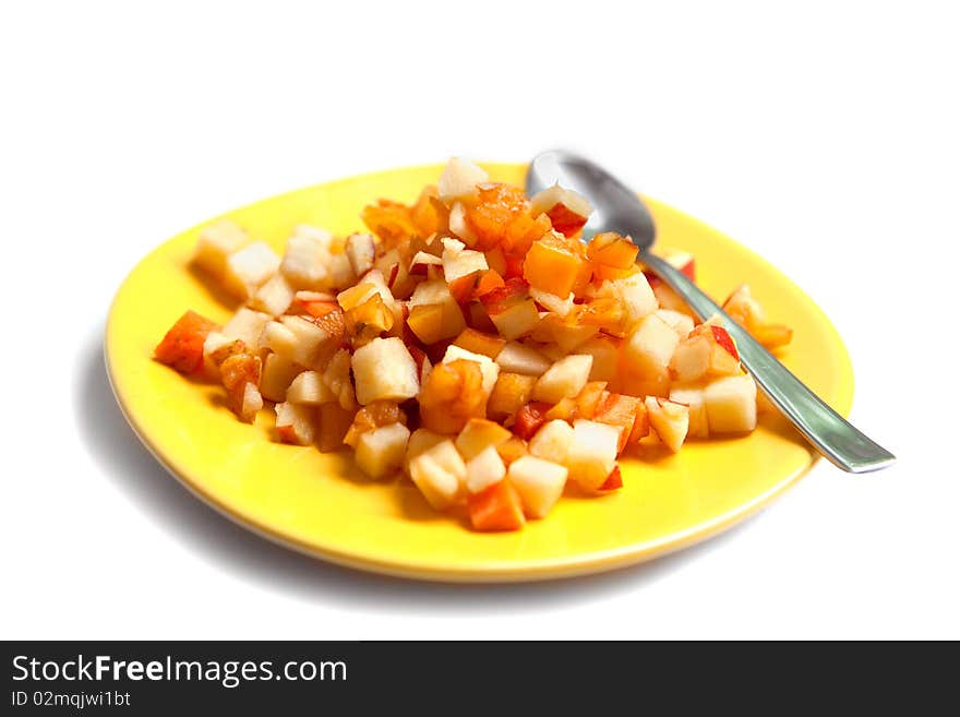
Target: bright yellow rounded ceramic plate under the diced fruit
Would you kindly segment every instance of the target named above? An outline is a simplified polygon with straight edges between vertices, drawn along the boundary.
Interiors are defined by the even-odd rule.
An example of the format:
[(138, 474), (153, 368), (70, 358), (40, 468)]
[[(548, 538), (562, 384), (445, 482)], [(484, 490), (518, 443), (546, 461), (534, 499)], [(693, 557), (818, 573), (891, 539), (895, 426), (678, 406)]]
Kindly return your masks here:
[[(357, 230), (380, 196), (412, 201), (441, 166), (396, 169), (265, 200), (230, 218), (283, 249), (300, 223)], [(493, 180), (523, 184), (524, 165), (487, 165)], [(724, 297), (748, 282), (777, 321), (795, 330), (787, 366), (847, 415), (853, 373), (827, 318), (756, 254), (710, 227), (648, 200), (659, 241), (693, 252), (700, 285)], [(117, 294), (106, 354), (120, 406), (144, 444), (196, 495), (264, 537), (336, 563), (437, 581), (531, 581), (610, 570), (692, 545), (732, 526), (807, 469), (814, 455), (778, 416), (745, 438), (691, 442), (674, 456), (625, 461), (624, 488), (564, 497), (550, 516), (507, 534), (471, 533), (434, 513), (410, 483), (374, 483), (351, 457), (271, 440), (272, 411), (253, 427), (220, 391), (151, 359), (187, 309), (216, 321), (230, 310), (188, 266), (199, 227), (173, 237), (133, 270)]]

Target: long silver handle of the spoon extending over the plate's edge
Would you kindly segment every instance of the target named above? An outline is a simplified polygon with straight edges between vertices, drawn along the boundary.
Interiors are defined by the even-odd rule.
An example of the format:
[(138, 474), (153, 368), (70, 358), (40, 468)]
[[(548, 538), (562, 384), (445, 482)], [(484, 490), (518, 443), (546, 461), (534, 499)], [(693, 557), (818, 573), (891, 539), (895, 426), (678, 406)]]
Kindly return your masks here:
[(638, 258), (687, 302), (701, 321), (719, 314), (740, 352), (740, 360), (767, 397), (831, 463), (850, 473), (879, 470), (896, 457), (861, 433), (807, 389), (740, 324), (728, 316), (696, 284), (659, 256)]

